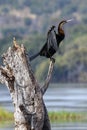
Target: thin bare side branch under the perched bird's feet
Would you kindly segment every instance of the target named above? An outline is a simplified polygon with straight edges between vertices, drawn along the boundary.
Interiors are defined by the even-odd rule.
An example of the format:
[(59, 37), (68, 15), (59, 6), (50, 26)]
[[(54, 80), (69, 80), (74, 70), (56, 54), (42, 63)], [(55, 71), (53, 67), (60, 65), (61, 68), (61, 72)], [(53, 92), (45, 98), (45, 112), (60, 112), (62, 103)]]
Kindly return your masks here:
[(43, 87), (41, 88), (42, 95), (44, 95), (44, 93), (46, 92), (46, 90), (49, 86), (50, 79), (51, 79), (52, 72), (53, 72), (54, 63), (55, 63), (55, 59), (51, 58), (47, 78), (45, 80)]

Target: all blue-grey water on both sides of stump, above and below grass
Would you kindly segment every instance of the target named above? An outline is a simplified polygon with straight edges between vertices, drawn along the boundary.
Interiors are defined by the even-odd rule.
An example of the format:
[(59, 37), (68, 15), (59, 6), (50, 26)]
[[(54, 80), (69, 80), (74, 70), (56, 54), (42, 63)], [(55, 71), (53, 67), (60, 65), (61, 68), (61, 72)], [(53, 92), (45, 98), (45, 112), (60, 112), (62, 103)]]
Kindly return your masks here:
[[(56, 84), (50, 85), (44, 101), (48, 111), (87, 111), (87, 85), (86, 84)], [(0, 106), (14, 111), (9, 91), (0, 86)], [(13, 130), (12, 126), (0, 130)], [(52, 130), (87, 130), (86, 122), (54, 124)]]

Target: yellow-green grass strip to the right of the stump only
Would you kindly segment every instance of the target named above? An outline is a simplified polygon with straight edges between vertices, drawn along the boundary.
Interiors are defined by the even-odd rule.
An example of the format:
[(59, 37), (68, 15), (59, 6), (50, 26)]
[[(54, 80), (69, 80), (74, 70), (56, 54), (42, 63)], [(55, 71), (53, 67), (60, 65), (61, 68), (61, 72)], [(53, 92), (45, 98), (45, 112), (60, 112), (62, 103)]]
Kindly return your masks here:
[(87, 113), (76, 112), (49, 112), (50, 121), (53, 123), (58, 122), (83, 122), (87, 121)]

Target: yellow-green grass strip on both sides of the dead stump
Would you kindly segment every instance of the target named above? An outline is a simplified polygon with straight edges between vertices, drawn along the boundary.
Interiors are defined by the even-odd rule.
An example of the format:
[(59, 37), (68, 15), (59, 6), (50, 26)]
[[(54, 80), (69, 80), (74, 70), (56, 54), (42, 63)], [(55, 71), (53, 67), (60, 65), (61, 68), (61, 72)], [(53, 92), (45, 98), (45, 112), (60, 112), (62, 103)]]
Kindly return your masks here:
[[(49, 112), (49, 118), (51, 123), (60, 122), (82, 122), (87, 121), (87, 113), (76, 112)], [(0, 108), (0, 125), (10, 124), (14, 122), (13, 113)]]

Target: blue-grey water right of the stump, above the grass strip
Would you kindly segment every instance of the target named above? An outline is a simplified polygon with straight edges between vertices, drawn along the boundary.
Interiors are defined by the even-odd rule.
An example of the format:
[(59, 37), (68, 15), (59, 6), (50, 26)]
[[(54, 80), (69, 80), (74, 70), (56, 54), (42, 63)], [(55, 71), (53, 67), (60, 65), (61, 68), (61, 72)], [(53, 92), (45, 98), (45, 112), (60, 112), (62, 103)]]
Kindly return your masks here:
[(44, 96), (49, 111), (87, 111), (86, 84), (59, 84), (49, 87)]

